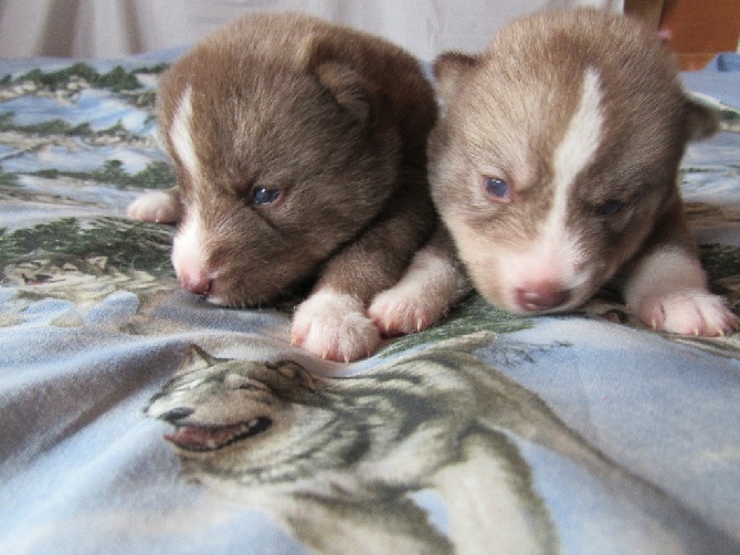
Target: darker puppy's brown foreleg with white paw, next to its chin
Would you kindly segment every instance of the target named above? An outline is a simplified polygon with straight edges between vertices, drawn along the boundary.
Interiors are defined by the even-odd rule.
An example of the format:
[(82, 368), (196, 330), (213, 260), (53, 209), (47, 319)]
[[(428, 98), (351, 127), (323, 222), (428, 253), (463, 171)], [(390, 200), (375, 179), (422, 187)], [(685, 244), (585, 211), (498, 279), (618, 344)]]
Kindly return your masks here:
[(373, 224), (329, 261), (296, 308), (294, 345), (340, 362), (369, 356), (378, 347), (380, 333), (366, 310), (400, 279), (429, 234), (434, 212), (422, 184), (406, 184)]

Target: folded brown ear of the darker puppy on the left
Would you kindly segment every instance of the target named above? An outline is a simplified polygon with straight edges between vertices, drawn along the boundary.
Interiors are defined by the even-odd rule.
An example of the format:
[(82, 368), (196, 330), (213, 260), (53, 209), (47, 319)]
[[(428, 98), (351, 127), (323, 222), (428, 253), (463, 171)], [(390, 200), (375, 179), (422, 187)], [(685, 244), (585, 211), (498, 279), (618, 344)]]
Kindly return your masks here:
[(305, 48), (309, 71), (342, 108), (362, 125), (367, 124), (377, 86), (352, 67), (347, 50), (329, 38), (311, 36)]

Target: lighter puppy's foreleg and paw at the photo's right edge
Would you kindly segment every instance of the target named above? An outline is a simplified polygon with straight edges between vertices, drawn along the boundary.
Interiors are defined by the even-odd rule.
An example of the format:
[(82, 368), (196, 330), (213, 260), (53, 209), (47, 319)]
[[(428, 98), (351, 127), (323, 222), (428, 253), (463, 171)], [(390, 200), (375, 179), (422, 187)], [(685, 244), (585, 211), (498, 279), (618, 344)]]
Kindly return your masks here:
[(709, 292), (680, 212), (674, 211), (666, 220), (658, 241), (626, 279), (627, 306), (655, 329), (704, 336), (730, 332), (737, 316), (722, 297)]

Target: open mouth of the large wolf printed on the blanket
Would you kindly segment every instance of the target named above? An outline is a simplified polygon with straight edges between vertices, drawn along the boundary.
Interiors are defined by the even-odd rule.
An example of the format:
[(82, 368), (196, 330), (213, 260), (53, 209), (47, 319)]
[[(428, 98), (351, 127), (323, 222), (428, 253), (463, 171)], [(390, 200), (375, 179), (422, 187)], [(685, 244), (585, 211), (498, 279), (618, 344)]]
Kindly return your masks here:
[(218, 451), (239, 441), (258, 436), (273, 426), (267, 417), (226, 426), (177, 426), (165, 439), (186, 451)]

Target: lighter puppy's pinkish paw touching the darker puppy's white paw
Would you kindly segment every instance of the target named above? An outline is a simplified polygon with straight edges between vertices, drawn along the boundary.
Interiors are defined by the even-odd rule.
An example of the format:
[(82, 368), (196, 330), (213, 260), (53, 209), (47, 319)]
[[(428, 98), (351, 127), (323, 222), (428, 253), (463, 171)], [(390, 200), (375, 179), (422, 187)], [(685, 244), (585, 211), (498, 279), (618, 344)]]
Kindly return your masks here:
[(368, 308), (378, 329), (387, 336), (421, 332), (444, 316), (446, 300), (424, 296), (419, 291), (402, 291), (399, 287), (379, 293)]

